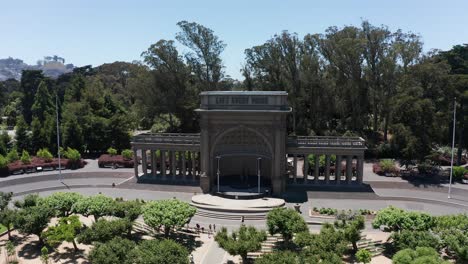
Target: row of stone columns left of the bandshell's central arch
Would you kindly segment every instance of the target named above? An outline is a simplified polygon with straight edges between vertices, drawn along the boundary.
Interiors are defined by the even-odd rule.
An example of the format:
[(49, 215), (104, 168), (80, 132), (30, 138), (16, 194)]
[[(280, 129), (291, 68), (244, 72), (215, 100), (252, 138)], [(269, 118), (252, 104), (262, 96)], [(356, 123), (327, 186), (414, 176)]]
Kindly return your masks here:
[[(138, 160), (137, 149), (133, 150), (133, 156), (134, 160)], [(135, 162), (135, 175), (146, 175), (164, 180), (195, 181), (200, 176), (200, 152), (141, 149), (143, 170), (141, 175), (138, 165), (138, 162)]]

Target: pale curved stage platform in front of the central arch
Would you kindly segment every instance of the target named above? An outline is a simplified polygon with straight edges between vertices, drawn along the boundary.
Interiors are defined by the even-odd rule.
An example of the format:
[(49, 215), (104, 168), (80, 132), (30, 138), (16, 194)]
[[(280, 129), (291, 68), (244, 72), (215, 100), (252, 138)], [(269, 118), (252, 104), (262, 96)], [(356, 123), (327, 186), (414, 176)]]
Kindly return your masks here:
[(235, 200), (219, 197), (211, 194), (200, 194), (192, 197), (192, 205), (205, 210), (229, 211), (243, 213), (268, 212), (273, 208), (285, 205), (283, 199), (278, 198), (258, 198), (245, 200)]

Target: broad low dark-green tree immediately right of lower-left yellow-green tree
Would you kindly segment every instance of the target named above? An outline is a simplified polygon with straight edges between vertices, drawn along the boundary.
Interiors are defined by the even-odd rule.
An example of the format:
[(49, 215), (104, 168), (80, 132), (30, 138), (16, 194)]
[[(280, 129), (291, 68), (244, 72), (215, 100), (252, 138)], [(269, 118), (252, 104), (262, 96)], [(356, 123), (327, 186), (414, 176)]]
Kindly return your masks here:
[(104, 243), (115, 237), (123, 238), (127, 230), (132, 228), (132, 222), (128, 219), (105, 220), (99, 219), (91, 227), (85, 228), (78, 236), (78, 242), (92, 244)]

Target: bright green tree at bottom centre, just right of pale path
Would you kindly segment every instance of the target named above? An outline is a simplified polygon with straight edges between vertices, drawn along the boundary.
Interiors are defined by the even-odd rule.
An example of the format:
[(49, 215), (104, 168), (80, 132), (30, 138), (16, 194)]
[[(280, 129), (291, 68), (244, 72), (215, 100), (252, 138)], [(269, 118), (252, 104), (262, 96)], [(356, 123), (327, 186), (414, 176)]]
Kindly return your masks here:
[(233, 256), (240, 255), (242, 263), (247, 263), (247, 254), (260, 250), (265, 240), (265, 231), (258, 231), (255, 227), (245, 225), (231, 235), (228, 235), (227, 229), (223, 227), (215, 236), (219, 246)]

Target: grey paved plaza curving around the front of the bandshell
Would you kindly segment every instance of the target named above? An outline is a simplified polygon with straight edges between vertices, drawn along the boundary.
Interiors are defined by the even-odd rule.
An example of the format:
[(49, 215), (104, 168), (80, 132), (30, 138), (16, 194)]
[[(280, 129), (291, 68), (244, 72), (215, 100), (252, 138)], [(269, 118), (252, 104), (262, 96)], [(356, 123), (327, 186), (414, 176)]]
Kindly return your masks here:
[[(88, 164), (82, 169), (63, 171), (62, 177), (59, 177), (55, 171), (0, 178), (0, 191), (14, 192), (14, 200), (21, 199), (28, 193), (47, 196), (56, 191), (65, 191), (84, 195), (102, 193), (115, 198), (138, 198), (146, 201), (175, 197), (186, 202), (192, 202), (194, 196), (197, 197), (196, 195), (202, 193), (199, 186), (137, 183), (133, 169), (103, 169), (98, 168), (95, 160), (87, 161)], [(370, 163), (364, 165), (364, 172), (364, 182), (370, 186), (368, 189), (340, 189), (329, 186), (314, 188), (300, 188), (301, 186), (299, 186), (295, 188), (291, 186), (283, 197), (286, 201), (285, 206), (294, 208), (295, 205), (299, 205), (311, 231), (318, 231), (320, 224), (327, 221), (310, 217), (309, 211), (313, 207), (330, 207), (339, 210), (379, 210), (393, 205), (434, 215), (468, 212), (468, 189), (465, 185), (455, 184), (452, 188), (452, 199), (447, 199), (447, 186), (445, 184), (415, 185), (401, 178), (378, 176), (372, 173), (372, 164)], [(302, 175), (298, 173), (298, 176)], [(214, 201), (222, 206), (219, 202), (220, 200)], [(238, 202), (240, 202), (238, 204), (242, 204), (243, 201)], [(224, 206), (232, 207), (233, 204), (225, 204)], [(250, 206), (254, 206), (254, 204), (250, 204)], [(218, 228), (224, 226), (228, 230), (233, 230), (241, 225), (242, 215), (243, 213), (210, 212), (199, 209), (189, 225), (199, 224), (208, 230), (208, 226), (211, 224)], [(244, 224), (265, 229), (265, 214), (246, 216)], [(370, 223), (367, 223), (365, 233), (372, 232), (375, 231)], [(219, 248), (212, 235), (203, 234), (200, 240), (203, 241), (203, 244), (194, 252), (195, 263), (226, 263), (228, 260), (235, 260)]]

